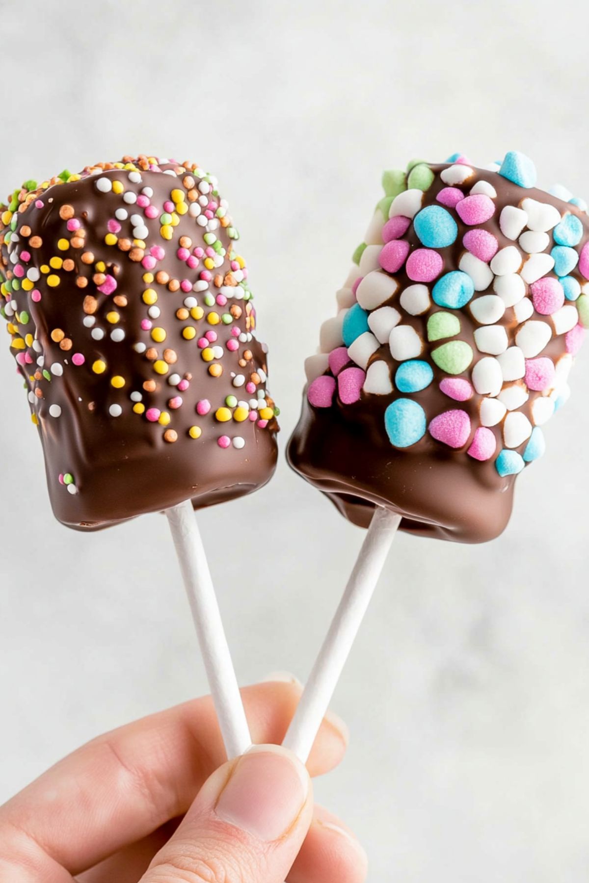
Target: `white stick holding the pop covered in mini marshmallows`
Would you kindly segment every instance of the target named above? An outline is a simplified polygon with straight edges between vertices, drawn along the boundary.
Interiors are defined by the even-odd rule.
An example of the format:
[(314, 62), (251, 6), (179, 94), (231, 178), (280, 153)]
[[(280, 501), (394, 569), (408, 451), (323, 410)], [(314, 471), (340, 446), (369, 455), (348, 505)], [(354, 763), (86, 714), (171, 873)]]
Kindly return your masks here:
[(284, 736), (283, 745), (304, 762), (328, 710), (400, 523), (401, 517), (389, 509), (375, 509), (344, 597)]

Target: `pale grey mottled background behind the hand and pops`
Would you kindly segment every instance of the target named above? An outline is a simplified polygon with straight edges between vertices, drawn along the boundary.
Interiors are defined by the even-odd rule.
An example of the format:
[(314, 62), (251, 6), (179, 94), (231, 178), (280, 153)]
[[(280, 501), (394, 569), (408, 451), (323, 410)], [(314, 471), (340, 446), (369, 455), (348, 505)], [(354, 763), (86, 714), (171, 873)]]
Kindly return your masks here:
[[(0, 16), (2, 192), (140, 151), (220, 178), (282, 447), (383, 168), (517, 148), (540, 184), (589, 194), (580, 2), (4, 0)], [(206, 683), (164, 519), (91, 536), (58, 525), (5, 343), (0, 363), (2, 799)], [(318, 785), (366, 844), (373, 880), (586, 879), (588, 365), (585, 353), (500, 540), (396, 541), (335, 699), (350, 752)], [(228, 523), (237, 537), (244, 525), (230, 547)], [(361, 532), (283, 463), (200, 525), (242, 682), (276, 668), (304, 679)]]

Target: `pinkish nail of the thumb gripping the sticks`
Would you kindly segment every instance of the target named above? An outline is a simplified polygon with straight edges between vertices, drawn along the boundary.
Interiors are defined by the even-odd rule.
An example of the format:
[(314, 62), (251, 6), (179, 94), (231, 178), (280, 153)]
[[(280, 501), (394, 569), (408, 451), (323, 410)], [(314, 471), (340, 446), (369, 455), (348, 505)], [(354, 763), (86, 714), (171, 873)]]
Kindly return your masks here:
[(308, 793), (309, 775), (290, 751), (279, 745), (254, 745), (239, 758), (215, 812), (268, 843), (291, 829)]

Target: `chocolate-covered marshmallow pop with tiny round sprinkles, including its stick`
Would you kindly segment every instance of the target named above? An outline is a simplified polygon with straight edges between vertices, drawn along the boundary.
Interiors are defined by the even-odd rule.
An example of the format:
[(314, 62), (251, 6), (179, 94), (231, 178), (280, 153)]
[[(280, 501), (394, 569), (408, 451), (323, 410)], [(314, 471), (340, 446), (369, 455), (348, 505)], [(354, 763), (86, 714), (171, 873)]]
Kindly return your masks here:
[(93, 529), (168, 510), (201, 632), (215, 621), (208, 656), (230, 668), (189, 501), (268, 481), (278, 411), (215, 177), (125, 156), (27, 181), (0, 220), (2, 313), (56, 517)]

